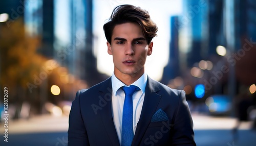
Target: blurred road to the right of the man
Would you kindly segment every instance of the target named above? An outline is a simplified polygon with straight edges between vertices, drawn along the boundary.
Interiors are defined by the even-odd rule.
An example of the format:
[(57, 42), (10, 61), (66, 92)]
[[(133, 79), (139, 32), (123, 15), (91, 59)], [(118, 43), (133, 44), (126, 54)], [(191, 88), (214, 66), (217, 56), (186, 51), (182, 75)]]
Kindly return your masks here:
[(195, 141), (199, 146), (255, 146), (256, 131), (251, 130), (251, 121), (241, 123), (237, 133), (233, 133), (236, 118), (192, 115)]

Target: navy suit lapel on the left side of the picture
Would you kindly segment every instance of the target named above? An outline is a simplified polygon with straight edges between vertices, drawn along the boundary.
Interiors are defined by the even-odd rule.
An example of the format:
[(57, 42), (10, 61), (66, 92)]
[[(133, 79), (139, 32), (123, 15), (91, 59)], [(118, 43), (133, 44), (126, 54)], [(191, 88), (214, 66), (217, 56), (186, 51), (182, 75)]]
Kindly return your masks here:
[(116, 128), (113, 121), (112, 116), (112, 85), (111, 85), (111, 78), (106, 80), (105, 84), (103, 84), (99, 90), (100, 96), (105, 99), (106, 104), (100, 110), (100, 116), (102, 119), (102, 123), (105, 127), (106, 133), (108, 133), (109, 138), (113, 145), (120, 145)]

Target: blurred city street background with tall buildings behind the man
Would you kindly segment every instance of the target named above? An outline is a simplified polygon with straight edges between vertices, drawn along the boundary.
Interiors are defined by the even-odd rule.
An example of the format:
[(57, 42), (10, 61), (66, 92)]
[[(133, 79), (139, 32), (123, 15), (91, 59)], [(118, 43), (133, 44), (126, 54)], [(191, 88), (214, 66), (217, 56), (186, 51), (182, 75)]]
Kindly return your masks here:
[(157, 24), (146, 73), (185, 90), (196, 143), (255, 145), (253, 0), (1, 1), (0, 145), (67, 145), (76, 91), (113, 73), (103, 25), (122, 4), (147, 10)]

